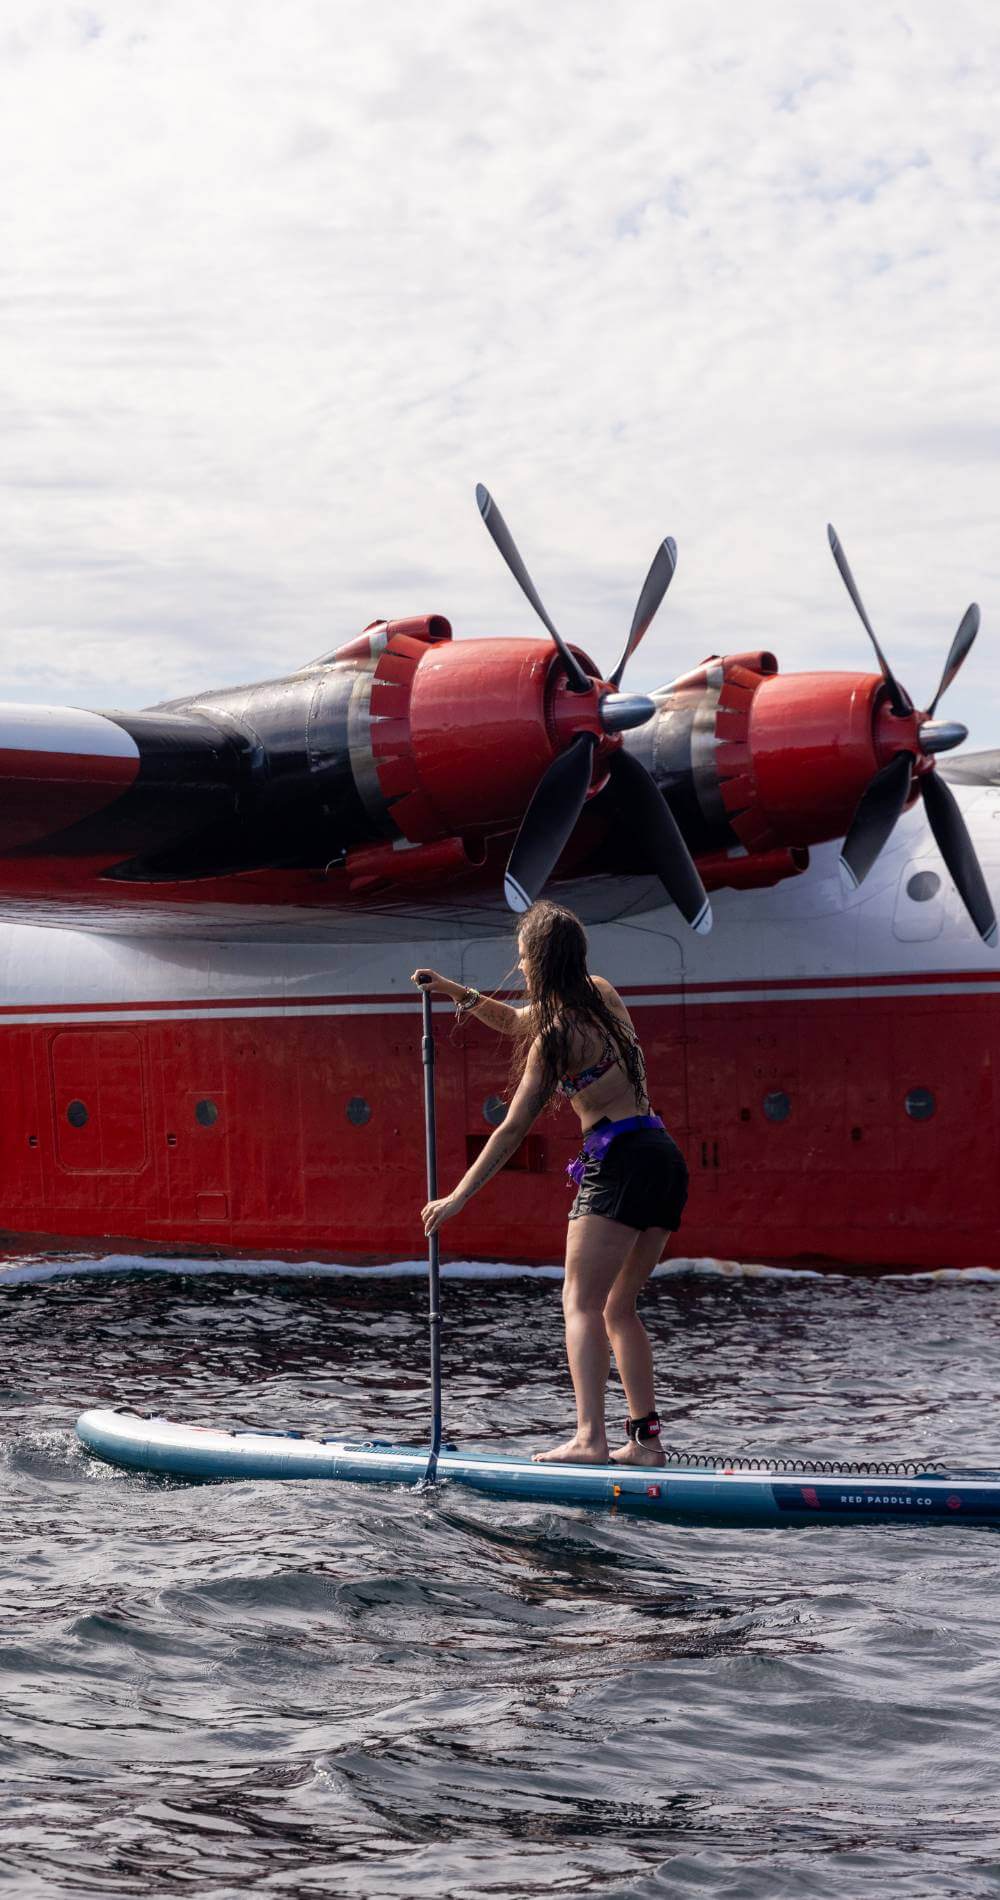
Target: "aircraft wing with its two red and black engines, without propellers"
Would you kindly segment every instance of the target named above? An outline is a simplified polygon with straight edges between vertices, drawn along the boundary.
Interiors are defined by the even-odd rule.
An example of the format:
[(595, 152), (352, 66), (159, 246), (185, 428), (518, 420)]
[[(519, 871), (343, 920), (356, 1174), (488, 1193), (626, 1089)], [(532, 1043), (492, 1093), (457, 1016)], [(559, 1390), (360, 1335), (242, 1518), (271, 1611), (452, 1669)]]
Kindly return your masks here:
[(749, 887), (795, 876), (810, 844), (842, 836), (897, 750), (916, 760), (914, 787), (930, 770), (920, 714), (895, 716), (878, 674), (779, 674), (768, 652), (711, 657), (622, 737), (601, 716), (614, 690), (574, 652), (589, 678), (580, 694), (548, 638), (454, 644), (447, 619), (422, 616), (376, 621), (283, 678), (144, 712), (48, 712), (38, 733), (11, 712), (0, 849), (116, 884), (281, 866), (348, 895), (496, 889), (551, 760), (591, 733), (591, 794), (557, 876), (650, 868), (614, 781), (605, 790), (625, 743), (705, 884)]

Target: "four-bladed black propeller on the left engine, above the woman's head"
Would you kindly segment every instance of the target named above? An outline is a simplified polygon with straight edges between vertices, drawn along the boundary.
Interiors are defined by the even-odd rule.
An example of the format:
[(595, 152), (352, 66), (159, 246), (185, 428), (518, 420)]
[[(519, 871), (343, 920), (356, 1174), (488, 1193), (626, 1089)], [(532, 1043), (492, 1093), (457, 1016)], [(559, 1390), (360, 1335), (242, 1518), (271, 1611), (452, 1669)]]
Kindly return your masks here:
[[(510, 572), (525, 597), (530, 600), (542, 625), (555, 640), (559, 657), (567, 671), (568, 690), (572, 694), (589, 695), (599, 682), (591, 680), (589, 673), (584, 671), (576, 654), (570, 652), (546, 614), (534, 581), (521, 560), (513, 536), (483, 483), (479, 483), (475, 490), (475, 500)], [(639, 591), (639, 600), (631, 618), (629, 636), (622, 657), (608, 678), (608, 686), (614, 690), (606, 692), (599, 699), (601, 730), (606, 739), (616, 739), (618, 733), (627, 732), (631, 726), (643, 726), (656, 712), (656, 703), (652, 699), (646, 699), (643, 694), (620, 694), (618, 686), (622, 684), (625, 665), (648, 633), (660, 602), (663, 600), (663, 595), (673, 580), (675, 568), (677, 543), (667, 536), (667, 540), (656, 549), (646, 580)], [(527, 910), (555, 870), (555, 864), (565, 851), (574, 825), (584, 809), (591, 787), (593, 762), (601, 743), (603, 741), (597, 733), (578, 732), (570, 745), (559, 752), (551, 766), (548, 766), (542, 773), (525, 817), (521, 819), (521, 828), (513, 840), (513, 849), (508, 859), (504, 897), (511, 910)], [(711, 904), (705, 897), (705, 887), (698, 876), (677, 819), (660, 792), (660, 787), (650, 777), (646, 768), (633, 758), (631, 752), (625, 752), (622, 745), (614, 745), (608, 752), (606, 771), (608, 779), (616, 787), (618, 804), (624, 808), (629, 826), (643, 836), (650, 863), (656, 876), (663, 884), (667, 897), (671, 897), (681, 916), (686, 918), (692, 929), (700, 933), (709, 931)]]

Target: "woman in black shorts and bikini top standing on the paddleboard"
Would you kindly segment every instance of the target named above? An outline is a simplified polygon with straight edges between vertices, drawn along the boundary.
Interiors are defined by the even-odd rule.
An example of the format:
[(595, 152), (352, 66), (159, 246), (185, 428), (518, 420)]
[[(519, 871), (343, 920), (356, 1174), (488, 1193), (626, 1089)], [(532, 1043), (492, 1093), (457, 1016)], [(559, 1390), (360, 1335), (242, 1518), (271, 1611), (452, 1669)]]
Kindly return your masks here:
[(627, 1465), (662, 1465), (652, 1349), (635, 1300), (681, 1226), (688, 1170), (650, 1110), (643, 1051), (618, 990), (587, 971), (580, 918), (557, 904), (532, 904), (521, 918), (517, 954), (529, 994), (523, 1009), (483, 998), (437, 971), (414, 971), (414, 982), (449, 996), (460, 1015), (517, 1036), (525, 1051), (506, 1119), (451, 1195), (428, 1203), (424, 1233), (435, 1233), (479, 1193), (561, 1089), (584, 1132), (568, 1170), (578, 1193), (568, 1214), (563, 1281), (576, 1431), (551, 1452), (536, 1452), (536, 1459), (606, 1463), (605, 1387), (614, 1353), (629, 1417), (627, 1444), (610, 1455)]

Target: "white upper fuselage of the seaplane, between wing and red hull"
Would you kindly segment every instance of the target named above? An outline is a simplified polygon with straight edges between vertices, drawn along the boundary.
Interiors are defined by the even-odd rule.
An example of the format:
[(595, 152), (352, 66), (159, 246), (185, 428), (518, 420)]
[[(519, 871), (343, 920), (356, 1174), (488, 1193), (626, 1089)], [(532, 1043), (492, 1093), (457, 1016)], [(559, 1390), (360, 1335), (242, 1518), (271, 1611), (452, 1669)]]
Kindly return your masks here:
[[(952, 783), (952, 790), (1000, 908), (1000, 787)], [(932, 876), (914, 884), (918, 872)], [(730, 984), (740, 986), (732, 1001), (745, 1001), (747, 982), (760, 986), (760, 1001), (779, 994), (783, 982), (795, 982), (802, 994), (808, 978), (821, 984), (835, 978), (840, 994), (865, 977), (894, 977), (920, 986), (918, 994), (933, 994), (926, 986), (941, 973), (960, 973), (973, 988), (977, 978), (989, 990), (1000, 982), (998, 956), (975, 935), (922, 804), (903, 815), (857, 891), (844, 885), (837, 844), (816, 847), (808, 872), (770, 889), (717, 891), (709, 937), (684, 929), (669, 904), (658, 906), (656, 889), (639, 878), (587, 880), (591, 916), (608, 920), (587, 923), (591, 965), (625, 996), (633, 984), (648, 992), (656, 982), (669, 992), (696, 986), (713, 1001), (728, 1001)], [(570, 904), (580, 893), (574, 885), (559, 887)], [(255, 1003), (268, 1015), (283, 1015), (310, 1011), (310, 999), (319, 996), (344, 998), (344, 1005), (356, 999), (354, 1009), (365, 1007), (357, 999), (373, 996), (392, 1009), (397, 996), (399, 1007), (411, 1009), (409, 973), (418, 961), (481, 986), (504, 978), (515, 986), (513, 920), (502, 910), (462, 904), (451, 912), (435, 906), (424, 916), (422, 908), (394, 904), (356, 920), (230, 908), (224, 916), (183, 920), (183, 933), (173, 916), (162, 935), (146, 914), (141, 937), (106, 935), (106, 916), (82, 918), (72, 931), (2, 923), (0, 1015), (6, 1022), (40, 1015), (72, 1020), (74, 1005), (84, 1015), (105, 1005), (114, 1020), (129, 1020), (156, 1015), (158, 1005), (173, 1015), (188, 999), (200, 1005), (200, 1015), (245, 1015)], [(646, 994), (646, 1001), (654, 998)]]

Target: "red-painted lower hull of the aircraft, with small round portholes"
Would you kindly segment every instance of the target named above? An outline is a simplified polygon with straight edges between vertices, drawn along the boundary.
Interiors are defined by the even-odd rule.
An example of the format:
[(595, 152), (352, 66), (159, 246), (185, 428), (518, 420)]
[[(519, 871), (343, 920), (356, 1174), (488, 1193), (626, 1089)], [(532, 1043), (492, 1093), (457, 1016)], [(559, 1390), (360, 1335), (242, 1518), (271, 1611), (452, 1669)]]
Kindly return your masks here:
[[(711, 1001), (707, 986), (633, 1001), (656, 1106), (692, 1170), (675, 1252), (996, 1264), (1000, 984), (981, 994), (981, 978), (956, 973), (933, 978), (945, 994), (918, 996), (907, 982), (913, 992), (905, 977), (861, 984), (861, 999), (827, 978), (785, 982), (781, 999), (774, 984), (766, 998), (745, 984), (738, 1005)], [(236, 1015), (209, 1018), (209, 1007)], [(106, 1005), (61, 1005), (84, 1022), (0, 1018), (8, 1237), (420, 1256), (418, 1013), (356, 1015), (348, 998), (300, 1007), (137, 1001), (129, 1009), (165, 1020), (114, 1022)], [(506, 1060), (496, 1037), (475, 1026), (452, 1037), (441, 1018), (445, 1186), (489, 1134), (483, 1106), (502, 1092)], [(914, 1089), (933, 1092), (926, 1121), (905, 1110)], [(764, 1102), (774, 1112), (779, 1096), (787, 1117), (768, 1119)], [(357, 1100), (363, 1123), (348, 1119)], [(559, 1260), (576, 1130), (568, 1106), (536, 1123), (517, 1163), (445, 1229), (445, 1258)]]

